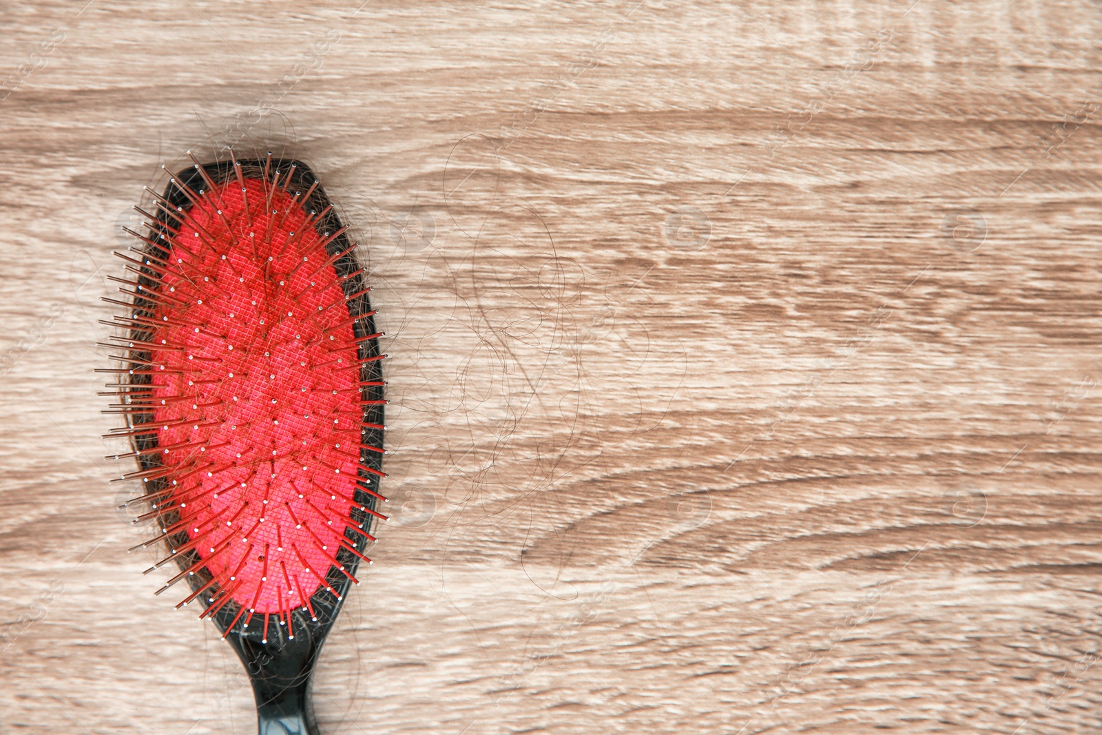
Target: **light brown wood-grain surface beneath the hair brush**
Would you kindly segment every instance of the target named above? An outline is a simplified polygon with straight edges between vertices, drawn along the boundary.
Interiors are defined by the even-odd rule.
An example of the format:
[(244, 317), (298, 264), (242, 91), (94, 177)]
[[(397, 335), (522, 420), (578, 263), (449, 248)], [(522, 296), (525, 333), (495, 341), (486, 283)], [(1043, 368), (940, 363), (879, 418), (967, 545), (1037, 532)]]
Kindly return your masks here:
[(227, 141), (393, 356), (326, 735), (1102, 728), (1098, 2), (0, 2), (0, 732), (255, 732), (91, 371)]

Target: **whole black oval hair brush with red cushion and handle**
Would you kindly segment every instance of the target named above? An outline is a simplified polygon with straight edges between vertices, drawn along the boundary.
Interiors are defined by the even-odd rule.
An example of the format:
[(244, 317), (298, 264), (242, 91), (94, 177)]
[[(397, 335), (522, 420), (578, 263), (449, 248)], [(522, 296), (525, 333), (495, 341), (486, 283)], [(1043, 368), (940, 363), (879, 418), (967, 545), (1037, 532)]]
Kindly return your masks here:
[(106, 299), (108, 411), (174, 574), (252, 683), (261, 735), (316, 734), (310, 681), (385, 501), (383, 386), (356, 244), (305, 164), (194, 166), (150, 192)]

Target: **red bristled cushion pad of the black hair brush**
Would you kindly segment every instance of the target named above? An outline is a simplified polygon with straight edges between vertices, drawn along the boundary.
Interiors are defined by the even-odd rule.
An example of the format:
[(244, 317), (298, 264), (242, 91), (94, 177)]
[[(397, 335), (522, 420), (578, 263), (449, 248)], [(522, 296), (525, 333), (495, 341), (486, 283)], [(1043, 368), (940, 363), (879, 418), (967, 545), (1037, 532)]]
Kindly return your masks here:
[(366, 560), (358, 541), (372, 537), (356, 510), (383, 518), (356, 495), (382, 498), (361, 456), (382, 452), (364, 435), (382, 426), (364, 419), (385, 401), (367, 398), (382, 382), (361, 372), (382, 357), (363, 349), (379, 336), (363, 328), (375, 312), (357, 313), (335, 268), (355, 247), (344, 228), (320, 231), (324, 213), (305, 210), (309, 196), (278, 171), (235, 166), (199, 191), (176, 184), (191, 206), (160, 199), (148, 247), (130, 259), (132, 309), (117, 317), (129, 336), (114, 345), (128, 365), (116, 412), (129, 420), (111, 435), (133, 441), (141, 469), (123, 478), (150, 488), (162, 538), (186, 532), (169, 559), (198, 556), (170, 585), (205, 568), (210, 582), (188, 601), (213, 596), (207, 615), (233, 599), (247, 626), (253, 613), (313, 617), (331, 568), (356, 581), (338, 559)]

